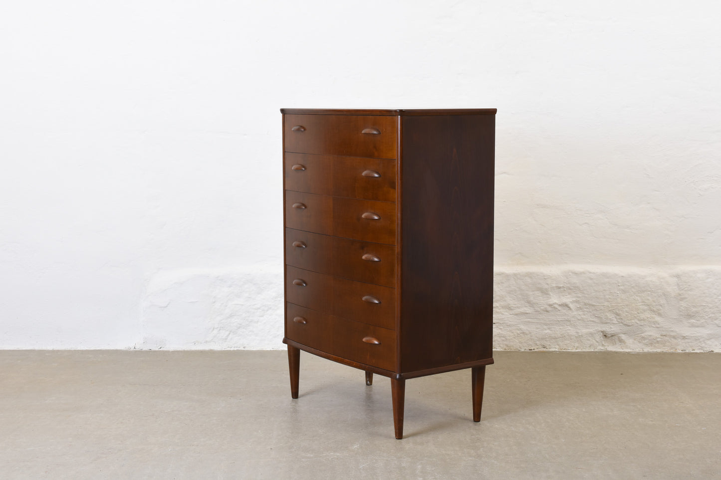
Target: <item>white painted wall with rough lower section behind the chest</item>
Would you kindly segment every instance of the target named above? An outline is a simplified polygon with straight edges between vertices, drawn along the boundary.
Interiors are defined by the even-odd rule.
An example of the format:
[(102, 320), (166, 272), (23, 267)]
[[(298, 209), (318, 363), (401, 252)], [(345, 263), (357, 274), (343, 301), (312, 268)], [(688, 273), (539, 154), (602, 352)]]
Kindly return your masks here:
[(497, 107), (496, 346), (721, 350), (717, 2), (17, 1), (0, 347), (280, 348), (280, 107)]

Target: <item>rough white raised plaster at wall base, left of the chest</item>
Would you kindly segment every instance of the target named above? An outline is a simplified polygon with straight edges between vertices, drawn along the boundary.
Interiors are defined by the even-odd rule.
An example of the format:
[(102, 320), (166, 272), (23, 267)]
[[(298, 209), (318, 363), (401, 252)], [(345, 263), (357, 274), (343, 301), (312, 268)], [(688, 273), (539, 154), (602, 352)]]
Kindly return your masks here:
[[(280, 286), (280, 288), (279, 288)], [(151, 278), (141, 349), (284, 347), (283, 271), (183, 270)]]

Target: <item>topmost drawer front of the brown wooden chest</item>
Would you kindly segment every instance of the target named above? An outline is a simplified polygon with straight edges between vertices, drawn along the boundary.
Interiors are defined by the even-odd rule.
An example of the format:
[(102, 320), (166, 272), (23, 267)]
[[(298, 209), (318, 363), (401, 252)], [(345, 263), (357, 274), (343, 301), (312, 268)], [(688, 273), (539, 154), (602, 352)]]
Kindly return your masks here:
[(286, 151), (395, 159), (397, 117), (285, 115)]

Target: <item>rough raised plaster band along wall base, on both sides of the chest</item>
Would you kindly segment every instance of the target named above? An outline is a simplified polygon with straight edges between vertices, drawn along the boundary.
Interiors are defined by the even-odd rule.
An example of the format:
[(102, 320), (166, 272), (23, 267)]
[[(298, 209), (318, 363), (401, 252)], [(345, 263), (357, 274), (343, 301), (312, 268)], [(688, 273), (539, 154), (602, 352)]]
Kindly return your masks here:
[[(721, 267), (496, 270), (497, 350), (721, 351)], [(157, 275), (136, 348), (280, 349), (280, 269)]]

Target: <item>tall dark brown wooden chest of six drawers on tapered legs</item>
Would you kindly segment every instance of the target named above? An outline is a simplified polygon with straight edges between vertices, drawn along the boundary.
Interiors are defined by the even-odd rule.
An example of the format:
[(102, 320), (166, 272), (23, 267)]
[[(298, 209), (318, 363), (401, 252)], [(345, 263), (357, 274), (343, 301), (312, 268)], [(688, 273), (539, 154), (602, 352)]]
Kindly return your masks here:
[(495, 109), (281, 109), (285, 338), (391, 379), (471, 369), (479, 422), (492, 358)]

